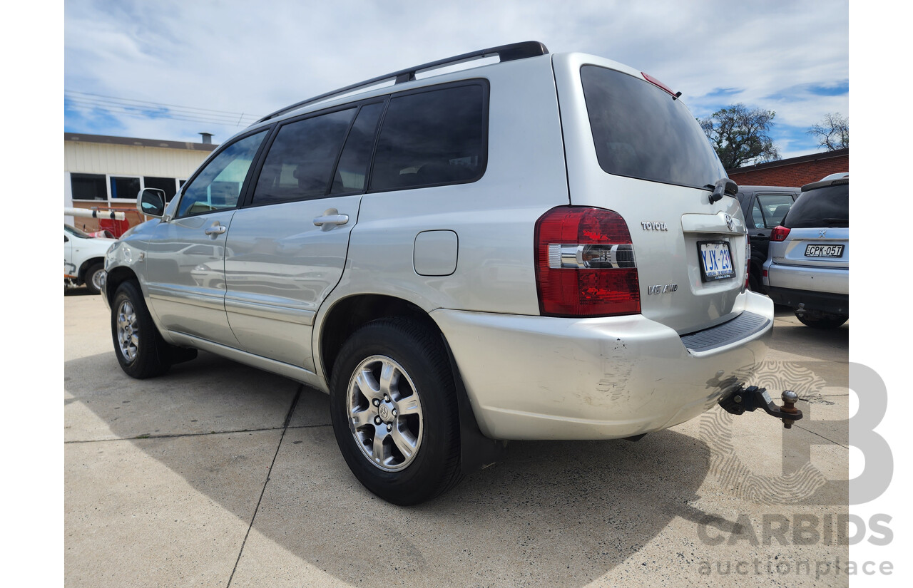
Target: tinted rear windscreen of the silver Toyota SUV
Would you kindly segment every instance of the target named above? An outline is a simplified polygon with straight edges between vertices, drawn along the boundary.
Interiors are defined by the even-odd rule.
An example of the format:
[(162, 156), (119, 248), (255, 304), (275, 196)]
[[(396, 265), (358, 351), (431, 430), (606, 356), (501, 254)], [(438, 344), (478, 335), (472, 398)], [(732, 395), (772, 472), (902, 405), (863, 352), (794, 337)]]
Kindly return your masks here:
[(726, 170), (681, 100), (605, 67), (580, 70), (583, 97), (604, 171), (641, 180), (711, 188)]

